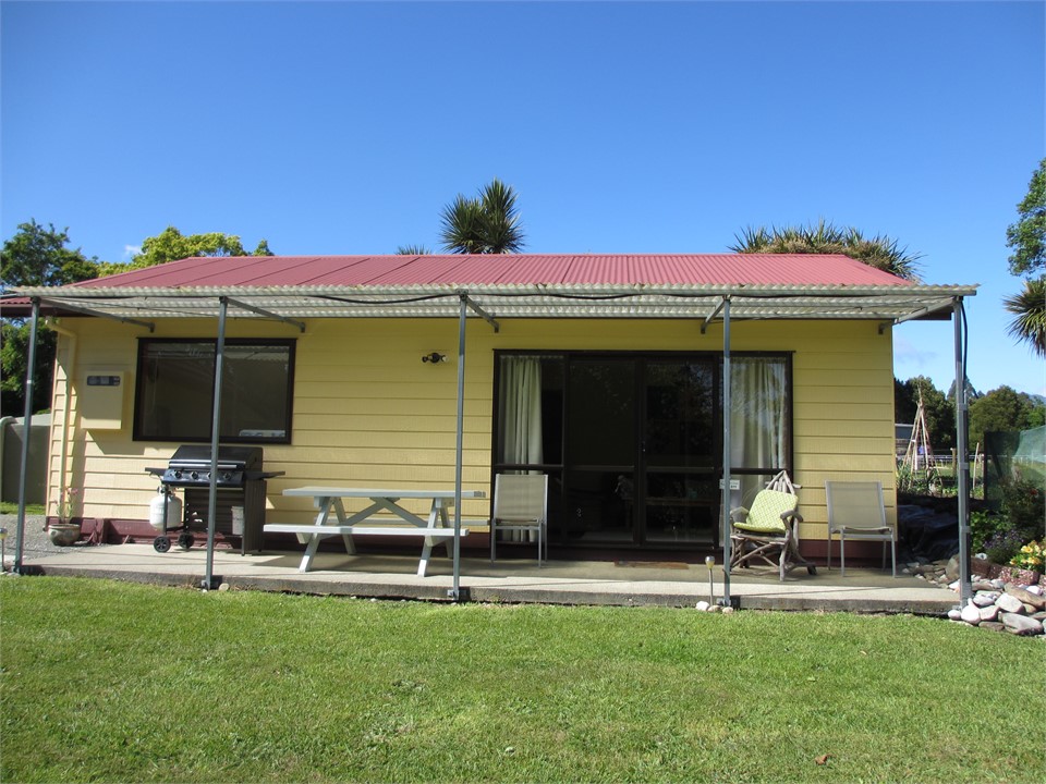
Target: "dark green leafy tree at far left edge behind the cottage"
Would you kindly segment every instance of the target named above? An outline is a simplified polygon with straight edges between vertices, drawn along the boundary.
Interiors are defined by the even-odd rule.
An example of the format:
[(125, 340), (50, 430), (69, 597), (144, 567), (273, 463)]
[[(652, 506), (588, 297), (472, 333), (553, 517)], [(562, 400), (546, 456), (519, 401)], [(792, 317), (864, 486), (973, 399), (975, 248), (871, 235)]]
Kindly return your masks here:
[[(3, 291), (19, 286), (51, 286), (97, 278), (98, 260), (87, 258), (80, 248), (70, 248), (69, 229), (44, 226), (35, 220), (20, 223), (19, 231), (0, 250), (0, 278)], [(0, 415), (25, 413), (25, 375), (28, 362), (31, 324), (22, 318), (0, 322)], [(50, 407), (51, 379), (54, 375), (56, 335), (42, 323), (37, 330), (36, 368), (33, 376), (34, 412)]]

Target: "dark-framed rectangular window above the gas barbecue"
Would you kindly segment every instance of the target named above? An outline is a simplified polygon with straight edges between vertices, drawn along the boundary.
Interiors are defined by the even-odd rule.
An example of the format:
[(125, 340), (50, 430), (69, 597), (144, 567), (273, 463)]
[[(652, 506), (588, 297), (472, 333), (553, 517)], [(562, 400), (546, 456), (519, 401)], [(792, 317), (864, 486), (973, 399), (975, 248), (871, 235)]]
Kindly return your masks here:
[[(209, 441), (217, 341), (143, 340), (134, 406), (136, 441)], [(294, 341), (227, 340), (223, 442), (290, 443)]]

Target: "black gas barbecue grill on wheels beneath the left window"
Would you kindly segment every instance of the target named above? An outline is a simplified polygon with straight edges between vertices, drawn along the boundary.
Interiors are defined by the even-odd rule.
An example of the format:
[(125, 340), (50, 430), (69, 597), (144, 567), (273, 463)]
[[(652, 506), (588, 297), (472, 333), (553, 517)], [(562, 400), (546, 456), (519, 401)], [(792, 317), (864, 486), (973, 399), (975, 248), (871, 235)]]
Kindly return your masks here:
[[(182, 523), (178, 544), (187, 550), (194, 543), (193, 530), (207, 531), (207, 515), (210, 504), (210, 445), (185, 444), (171, 455), (166, 468), (146, 468), (146, 471), (160, 478), (162, 490), (170, 493), (181, 488), (185, 495)], [(215, 541), (239, 540), (241, 554), (262, 549), (262, 527), (265, 525), (265, 482), (271, 477), (282, 476), (283, 471), (263, 470), (260, 446), (218, 448), (218, 471), (216, 489), (218, 491), (215, 513)], [(243, 528), (234, 530), (234, 506), (243, 509)], [(167, 519), (167, 516), (163, 516)], [(239, 526), (236, 526), (239, 527)], [(171, 549), (167, 526), (163, 532), (153, 540), (157, 552)]]

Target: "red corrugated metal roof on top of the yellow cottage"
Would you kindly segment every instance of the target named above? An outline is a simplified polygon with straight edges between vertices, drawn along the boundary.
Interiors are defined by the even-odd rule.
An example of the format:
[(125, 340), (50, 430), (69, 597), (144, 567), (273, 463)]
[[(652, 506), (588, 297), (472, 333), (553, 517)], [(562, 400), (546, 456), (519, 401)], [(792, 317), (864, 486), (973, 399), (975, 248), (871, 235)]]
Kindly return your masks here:
[(512, 254), (502, 256), (219, 256), (85, 281), (87, 287), (397, 285), (910, 285), (837, 255)]

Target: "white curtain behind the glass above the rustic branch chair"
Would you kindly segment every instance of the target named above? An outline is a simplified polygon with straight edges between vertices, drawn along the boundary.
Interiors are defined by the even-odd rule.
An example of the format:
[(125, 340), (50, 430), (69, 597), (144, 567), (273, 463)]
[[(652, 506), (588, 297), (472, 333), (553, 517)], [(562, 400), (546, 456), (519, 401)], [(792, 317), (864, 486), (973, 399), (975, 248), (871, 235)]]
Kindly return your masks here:
[[(779, 357), (738, 357), (730, 363), (730, 461), (735, 468), (786, 466), (788, 390), (784, 360)], [(741, 477), (734, 505), (749, 505), (763, 489), (763, 477)]]

